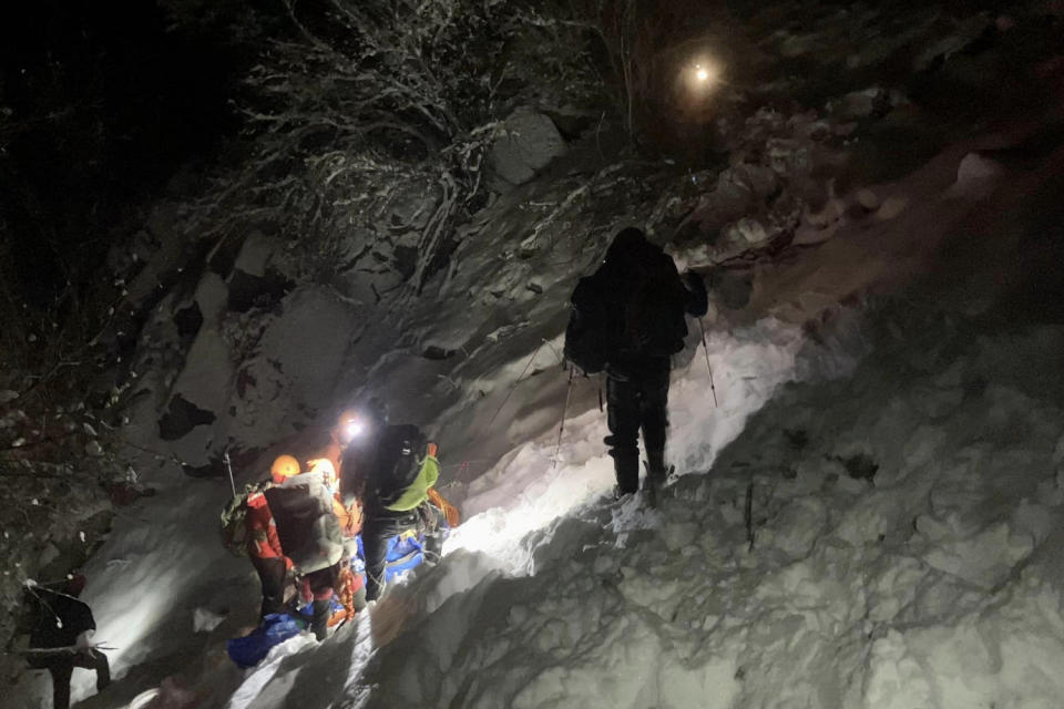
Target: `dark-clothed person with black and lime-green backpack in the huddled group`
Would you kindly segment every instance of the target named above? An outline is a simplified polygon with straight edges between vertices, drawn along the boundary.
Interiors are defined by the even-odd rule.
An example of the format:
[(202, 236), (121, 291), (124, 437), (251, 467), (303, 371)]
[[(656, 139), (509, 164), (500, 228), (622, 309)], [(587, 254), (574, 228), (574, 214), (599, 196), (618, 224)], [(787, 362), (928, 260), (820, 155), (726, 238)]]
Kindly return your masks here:
[(383, 587), (388, 542), (393, 536), (421, 532), (426, 557), (439, 558), (443, 513), (429, 501), (429, 490), (440, 476), (436, 443), (429, 443), (416, 425), (389, 425), (387, 408), (378, 399), (365, 409), (367, 428), (345, 452), (341, 489), (362, 495), (366, 600), (370, 602)]

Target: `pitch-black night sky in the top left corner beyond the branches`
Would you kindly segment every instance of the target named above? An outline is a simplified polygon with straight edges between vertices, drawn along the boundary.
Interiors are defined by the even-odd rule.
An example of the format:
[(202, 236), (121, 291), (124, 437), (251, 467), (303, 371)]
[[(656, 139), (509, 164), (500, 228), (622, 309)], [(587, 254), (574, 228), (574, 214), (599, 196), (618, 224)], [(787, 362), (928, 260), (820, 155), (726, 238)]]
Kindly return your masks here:
[(25, 297), (99, 266), (109, 230), (175, 169), (216, 150), (236, 50), (219, 30), (167, 31), (144, 0), (20, 3), (0, 23), (0, 216)]

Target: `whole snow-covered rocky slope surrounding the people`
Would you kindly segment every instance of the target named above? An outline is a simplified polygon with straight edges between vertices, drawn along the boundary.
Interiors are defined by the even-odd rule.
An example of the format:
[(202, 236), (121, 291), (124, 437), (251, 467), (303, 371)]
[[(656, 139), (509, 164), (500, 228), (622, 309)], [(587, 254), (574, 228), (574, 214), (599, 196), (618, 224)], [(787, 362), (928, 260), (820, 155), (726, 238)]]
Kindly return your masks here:
[[(983, 312), (1060, 263), (1060, 112), (1020, 116), (1009, 100), (1027, 88), (1010, 58), (1041, 20), (992, 33), (1003, 54), (964, 53), (993, 18), (958, 28), (928, 8), (921, 32), (963, 37), (922, 52), (894, 88), (871, 83), (908, 66), (903, 8), (883, 10), (884, 27), (871, 8), (825, 7), (804, 24), (808, 3), (787, 7), (790, 29), (766, 28), (759, 44), (778, 54), (778, 80), (713, 123), (727, 161), (692, 174), (603, 155), (589, 131), (553, 172), (463, 224), (421, 296), (376, 304), (301, 280), (232, 310), (239, 271), (262, 276), (291, 246), (248, 238), (236, 273), (190, 266), (156, 299), (158, 275), (184, 263), (161, 248), (131, 287), (151, 305), (123, 430), (152, 449), (136, 472), (158, 494), (123, 514), (88, 569), (121, 680), (86, 706), (125, 707), (161, 678), (176, 706), (224, 706), (239, 687), (232, 706), (256, 709), (1057, 706), (1041, 662), (1064, 658), (1060, 335), (899, 315), (940, 299)], [(861, 69), (872, 55), (891, 71)], [(1060, 85), (1062, 65), (1040, 64), (1030, 85)], [(812, 69), (822, 85), (798, 91)], [(1013, 93), (999, 115), (975, 99), (1002, 76)], [(969, 83), (975, 99), (951, 91)], [(715, 300), (720, 405), (693, 327), (672, 390), (682, 476), (653, 513), (606, 497), (595, 381), (574, 382), (555, 454), (564, 304), (632, 223), (712, 271)], [(838, 322), (840, 304), (856, 311), (921, 278), (950, 288)], [(184, 332), (190, 311), (202, 323)], [(805, 383), (780, 389), (790, 380)], [(244, 678), (221, 651), (256, 605), (249, 565), (214, 536), (228, 483), (185, 472), (216, 474), (223, 449), (262, 451), (368, 392), (440, 441), (444, 492), (467, 522), (446, 563), (371, 620), (320, 647), (294, 640)], [(207, 629), (203, 610), (224, 620)]]

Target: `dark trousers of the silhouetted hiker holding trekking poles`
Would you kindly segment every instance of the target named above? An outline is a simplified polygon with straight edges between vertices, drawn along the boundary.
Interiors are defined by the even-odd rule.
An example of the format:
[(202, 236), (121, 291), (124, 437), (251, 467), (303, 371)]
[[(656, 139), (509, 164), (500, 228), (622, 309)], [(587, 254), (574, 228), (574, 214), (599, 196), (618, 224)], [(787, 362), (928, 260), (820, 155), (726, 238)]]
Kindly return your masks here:
[[(631, 374), (606, 377), (605, 438), (617, 475), (617, 491), (640, 489), (640, 431), (652, 472), (664, 475), (665, 431), (668, 428), (669, 361), (655, 359)], [(658, 470), (662, 469), (662, 470)]]

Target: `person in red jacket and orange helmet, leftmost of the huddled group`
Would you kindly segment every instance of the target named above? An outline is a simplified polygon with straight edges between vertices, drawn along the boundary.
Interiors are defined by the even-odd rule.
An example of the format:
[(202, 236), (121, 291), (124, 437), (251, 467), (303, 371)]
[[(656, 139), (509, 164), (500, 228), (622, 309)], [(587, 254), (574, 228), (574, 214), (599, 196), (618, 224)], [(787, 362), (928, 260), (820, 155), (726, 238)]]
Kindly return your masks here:
[[(291, 475), (291, 471), (299, 470), (299, 463), (290, 455), (280, 455), (270, 467), (274, 483), (283, 483)], [(247, 555), (258, 573), (258, 580), (263, 585), (263, 605), (259, 612), (262, 617), (272, 613), (284, 613), (285, 609), (285, 577), (291, 563), (285, 557), (277, 536), (277, 525), (269, 511), (266, 495), (253, 492), (247, 496)]]

